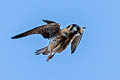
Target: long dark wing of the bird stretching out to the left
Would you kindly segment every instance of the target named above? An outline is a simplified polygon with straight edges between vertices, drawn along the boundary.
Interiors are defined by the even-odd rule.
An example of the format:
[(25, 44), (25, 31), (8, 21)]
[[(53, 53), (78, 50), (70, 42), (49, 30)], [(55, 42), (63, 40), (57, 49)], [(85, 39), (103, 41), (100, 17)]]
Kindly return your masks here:
[(38, 26), (24, 33), (18, 34), (12, 37), (12, 39), (22, 38), (31, 34), (41, 34), (44, 38), (52, 38), (53, 36), (55, 36), (56, 33), (60, 31), (60, 24), (50, 20), (43, 21), (47, 24)]

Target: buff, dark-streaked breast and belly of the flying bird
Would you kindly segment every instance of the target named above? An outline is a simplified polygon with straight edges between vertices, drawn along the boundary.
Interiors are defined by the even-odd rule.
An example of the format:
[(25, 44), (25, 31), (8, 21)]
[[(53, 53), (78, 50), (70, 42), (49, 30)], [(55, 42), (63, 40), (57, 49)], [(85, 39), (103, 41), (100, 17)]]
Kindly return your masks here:
[(66, 31), (57, 34), (55, 37), (51, 38), (49, 50), (52, 50), (55, 53), (62, 52), (70, 43), (71, 37), (72, 36)]

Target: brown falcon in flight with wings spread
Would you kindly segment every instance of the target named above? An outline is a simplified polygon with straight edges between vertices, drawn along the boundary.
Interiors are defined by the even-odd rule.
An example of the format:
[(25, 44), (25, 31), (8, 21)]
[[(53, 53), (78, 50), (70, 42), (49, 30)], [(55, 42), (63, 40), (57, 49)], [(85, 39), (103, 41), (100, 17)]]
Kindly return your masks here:
[(49, 40), (48, 46), (36, 50), (35, 54), (48, 55), (47, 61), (53, 58), (56, 53), (61, 53), (71, 43), (71, 54), (73, 54), (80, 43), (86, 27), (77, 24), (70, 24), (64, 29), (60, 29), (60, 24), (52, 20), (42, 20), (44, 25), (11, 37), (18, 39), (32, 34), (41, 34), (43, 38)]

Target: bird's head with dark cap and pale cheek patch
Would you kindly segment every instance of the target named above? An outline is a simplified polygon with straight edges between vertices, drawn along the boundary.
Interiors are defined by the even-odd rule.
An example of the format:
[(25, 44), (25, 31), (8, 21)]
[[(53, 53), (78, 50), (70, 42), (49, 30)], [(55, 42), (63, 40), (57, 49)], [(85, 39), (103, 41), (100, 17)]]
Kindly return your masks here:
[(86, 27), (80, 27), (79, 25), (77, 24), (70, 24), (68, 27), (67, 27), (68, 30), (70, 30), (71, 32), (80, 32), (80, 33), (83, 33), (84, 29), (86, 29)]

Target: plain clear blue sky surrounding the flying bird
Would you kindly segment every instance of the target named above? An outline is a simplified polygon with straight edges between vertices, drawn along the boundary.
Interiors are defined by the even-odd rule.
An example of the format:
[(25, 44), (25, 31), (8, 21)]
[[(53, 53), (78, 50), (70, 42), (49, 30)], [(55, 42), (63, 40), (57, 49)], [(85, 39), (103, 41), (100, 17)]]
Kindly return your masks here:
[[(0, 80), (120, 80), (119, 1), (2, 0), (0, 1)], [(116, 12), (117, 11), (117, 12)], [(80, 45), (70, 45), (46, 62), (34, 55), (48, 44), (39, 35), (12, 36), (54, 20), (61, 29), (86, 26)]]

